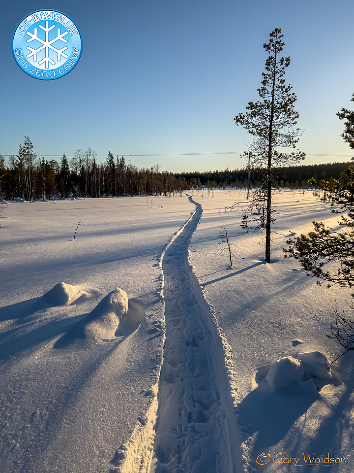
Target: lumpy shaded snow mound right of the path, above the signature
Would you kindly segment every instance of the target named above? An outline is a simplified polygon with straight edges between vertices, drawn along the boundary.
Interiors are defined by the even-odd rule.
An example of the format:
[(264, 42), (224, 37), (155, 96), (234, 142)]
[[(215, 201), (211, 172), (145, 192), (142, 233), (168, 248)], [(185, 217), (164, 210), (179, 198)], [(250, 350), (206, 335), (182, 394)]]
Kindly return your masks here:
[(273, 361), (266, 381), (273, 391), (279, 392), (299, 381), (331, 380), (332, 374), (327, 357), (319, 351), (300, 353), (298, 358), (286, 356)]

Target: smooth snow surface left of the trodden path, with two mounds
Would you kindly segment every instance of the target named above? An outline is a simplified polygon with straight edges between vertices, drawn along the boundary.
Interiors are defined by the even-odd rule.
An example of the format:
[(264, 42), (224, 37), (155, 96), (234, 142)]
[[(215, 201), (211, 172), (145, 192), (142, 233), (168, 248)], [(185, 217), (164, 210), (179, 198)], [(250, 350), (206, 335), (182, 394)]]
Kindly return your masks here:
[[(1, 472), (109, 472), (135, 453), (149, 458), (164, 337), (160, 257), (194, 211), (184, 196), (152, 200), (9, 203)], [(107, 300), (118, 289), (126, 314), (126, 301)]]

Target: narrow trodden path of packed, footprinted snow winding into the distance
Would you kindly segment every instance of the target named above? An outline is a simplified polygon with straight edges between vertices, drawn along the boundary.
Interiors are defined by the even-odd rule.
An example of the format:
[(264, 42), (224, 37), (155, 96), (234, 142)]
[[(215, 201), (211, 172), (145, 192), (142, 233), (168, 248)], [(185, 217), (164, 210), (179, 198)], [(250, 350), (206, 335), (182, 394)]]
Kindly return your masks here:
[(197, 301), (201, 288), (188, 263), (188, 247), (201, 215), (202, 207), (196, 204), (193, 217), (163, 258), (166, 340), (150, 470), (156, 473), (234, 471), (228, 458), (230, 442), (223, 439), (225, 413), (215, 379), (212, 335), (206, 309)]

